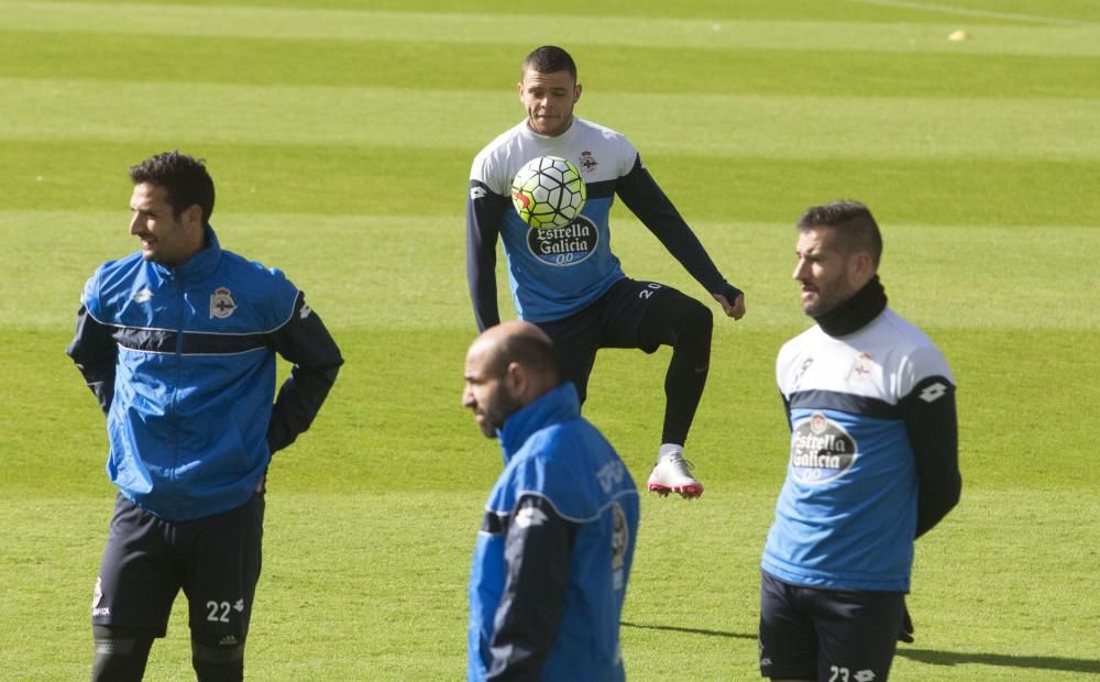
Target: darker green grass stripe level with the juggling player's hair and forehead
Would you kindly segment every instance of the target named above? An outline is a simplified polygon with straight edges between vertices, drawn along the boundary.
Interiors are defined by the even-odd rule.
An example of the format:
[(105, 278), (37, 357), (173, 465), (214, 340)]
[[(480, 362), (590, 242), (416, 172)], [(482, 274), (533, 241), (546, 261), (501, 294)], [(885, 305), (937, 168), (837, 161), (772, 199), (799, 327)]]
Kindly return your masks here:
[[(2, 21), (0, 21), (2, 23)], [(0, 77), (248, 86), (510, 91), (525, 50), (495, 44), (0, 32)], [(966, 53), (685, 51), (582, 45), (596, 97), (647, 94), (1100, 98), (1100, 57)], [(585, 97), (588, 97), (586, 95)]]

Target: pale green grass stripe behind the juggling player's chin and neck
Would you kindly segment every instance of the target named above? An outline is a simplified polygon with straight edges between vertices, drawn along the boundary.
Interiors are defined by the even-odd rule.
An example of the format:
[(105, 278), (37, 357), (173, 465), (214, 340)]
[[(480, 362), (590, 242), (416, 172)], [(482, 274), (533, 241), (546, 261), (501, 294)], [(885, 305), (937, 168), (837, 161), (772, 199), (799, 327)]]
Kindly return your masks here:
[[(398, 88), (0, 79), (0, 140), (393, 145), (477, 150), (521, 117), (515, 95)], [(591, 101), (590, 101), (591, 100)], [(644, 151), (700, 157), (1100, 158), (1100, 99), (594, 94), (582, 117)], [(437, 103), (461, 111), (441, 118)], [(217, 103), (215, 103), (217, 102)], [(274, 114), (274, 116), (273, 116)], [(266, 121), (257, 125), (260, 120)]]

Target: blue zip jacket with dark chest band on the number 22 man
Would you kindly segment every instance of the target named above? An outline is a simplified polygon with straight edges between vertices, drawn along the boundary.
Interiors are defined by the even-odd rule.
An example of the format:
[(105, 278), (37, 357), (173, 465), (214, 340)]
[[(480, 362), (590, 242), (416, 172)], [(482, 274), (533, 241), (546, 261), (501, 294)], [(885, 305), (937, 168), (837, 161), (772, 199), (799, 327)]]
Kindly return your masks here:
[[(133, 253), (85, 285), (68, 354), (107, 414), (107, 473), (136, 506), (189, 520), (243, 505), (305, 431), (342, 359), (277, 270), (206, 248), (167, 267)], [(294, 363), (275, 402), (275, 354)]]

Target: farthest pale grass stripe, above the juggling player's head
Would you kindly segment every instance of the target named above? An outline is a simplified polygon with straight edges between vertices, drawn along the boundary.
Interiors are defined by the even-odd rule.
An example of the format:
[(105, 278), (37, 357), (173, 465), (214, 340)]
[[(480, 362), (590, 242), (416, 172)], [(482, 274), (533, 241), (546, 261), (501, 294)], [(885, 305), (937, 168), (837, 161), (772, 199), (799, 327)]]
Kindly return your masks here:
[(953, 24), (689, 20), (632, 16), (371, 12), (179, 4), (88, 4), (13, 0), (8, 30), (134, 35), (221, 35), (286, 40), (400, 40), (532, 45), (636, 45), (706, 48), (810, 47), (821, 51), (1100, 54), (1100, 25), (978, 24), (952, 42)]

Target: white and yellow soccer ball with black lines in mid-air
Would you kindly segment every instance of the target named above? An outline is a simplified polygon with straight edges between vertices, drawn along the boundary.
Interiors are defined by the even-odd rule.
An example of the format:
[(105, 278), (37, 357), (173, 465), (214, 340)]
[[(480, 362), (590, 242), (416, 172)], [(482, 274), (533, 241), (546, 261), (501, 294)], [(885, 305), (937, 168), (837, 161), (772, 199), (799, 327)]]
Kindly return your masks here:
[(584, 208), (586, 195), (581, 172), (560, 156), (532, 158), (512, 180), (516, 212), (539, 230), (568, 226)]

